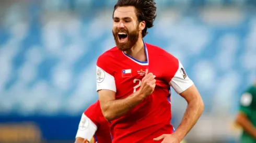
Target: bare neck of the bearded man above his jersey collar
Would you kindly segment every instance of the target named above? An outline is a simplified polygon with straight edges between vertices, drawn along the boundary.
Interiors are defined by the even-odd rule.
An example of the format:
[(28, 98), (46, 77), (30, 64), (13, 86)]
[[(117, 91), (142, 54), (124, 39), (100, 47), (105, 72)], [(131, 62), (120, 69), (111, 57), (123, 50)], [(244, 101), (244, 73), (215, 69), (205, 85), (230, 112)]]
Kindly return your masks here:
[(144, 43), (143, 43), (142, 38), (139, 38), (137, 43), (130, 50), (125, 51), (125, 54), (130, 55), (131, 57), (133, 57), (136, 60), (146, 61), (147, 57), (146, 57), (146, 53), (144, 50)]

